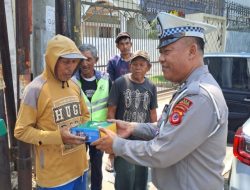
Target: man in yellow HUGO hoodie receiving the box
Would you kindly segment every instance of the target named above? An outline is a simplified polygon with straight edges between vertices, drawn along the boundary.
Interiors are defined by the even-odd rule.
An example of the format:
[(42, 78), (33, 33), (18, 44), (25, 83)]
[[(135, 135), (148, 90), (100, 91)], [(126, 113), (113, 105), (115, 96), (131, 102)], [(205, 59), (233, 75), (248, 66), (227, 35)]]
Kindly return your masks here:
[(39, 190), (85, 190), (85, 139), (69, 129), (89, 119), (79, 86), (71, 80), (86, 59), (69, 38), (56, 35), (46, 50), (46, 66), (24, 91), (15, 137), (35, 147)]

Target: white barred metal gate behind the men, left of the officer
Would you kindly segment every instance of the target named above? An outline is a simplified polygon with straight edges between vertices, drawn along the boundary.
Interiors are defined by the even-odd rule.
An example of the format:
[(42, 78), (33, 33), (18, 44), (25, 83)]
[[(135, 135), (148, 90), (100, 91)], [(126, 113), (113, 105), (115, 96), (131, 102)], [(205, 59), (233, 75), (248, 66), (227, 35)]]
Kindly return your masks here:
[[(158, 38), (144, 16), (144, 12), (135, 1), (82, 1), (82, 31), (83, 43), (97, 47), (99, 61), (98, 70), (106, 71), (108, 60), (119, 50), (115, 38), (121, 31), (127, 31), (132, 38), (132, 51), (145, 50), (150, 54), (152, 67), (148, 77), (157, 85), (157, 91), (172, 88), (172, 83), (166, 83), (158, 62)], [(153, 13), (152, 18), (155, 17)]]

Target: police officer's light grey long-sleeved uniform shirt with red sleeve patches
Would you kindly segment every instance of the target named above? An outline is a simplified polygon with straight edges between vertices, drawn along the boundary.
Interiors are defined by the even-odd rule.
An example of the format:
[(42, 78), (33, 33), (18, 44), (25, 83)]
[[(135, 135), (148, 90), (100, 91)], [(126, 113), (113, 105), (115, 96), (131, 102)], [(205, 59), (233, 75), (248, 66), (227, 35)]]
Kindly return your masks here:
[[(214, 97), (220, 119), (211, 96), (200, 85)], [(184, 90), (184, 95), (176, 100)], [(183, 107), (183, 100), (188, 106)], [(170, 107), (174, 109), (171, 111)], [(176, 116), (176, 110), (184, 111)], [(115, 155), (129, 162), (152, 167), (152, 181), (158, 189), (221, 190), (227, 118), (228, 108), (222, 91), (207, 66), (202, 66), (181, 86), (164, 110), (158, 127), (144, 123), (135, 128), (134, 136), (151, 140), (130, 141), (116, 137), (113, 150)], [(210, 136), (218, 123), (219, 129)]]

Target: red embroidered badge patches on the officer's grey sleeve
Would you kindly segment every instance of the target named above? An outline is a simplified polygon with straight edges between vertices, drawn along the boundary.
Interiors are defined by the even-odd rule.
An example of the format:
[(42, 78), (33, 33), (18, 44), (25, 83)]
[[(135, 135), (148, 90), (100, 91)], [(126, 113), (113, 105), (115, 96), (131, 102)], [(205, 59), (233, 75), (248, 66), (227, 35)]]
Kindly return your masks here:
[(169, 116), (169, 122), (172, 125), (179, 125), (182, 121), (183, 115), (192, 106), (193, 102), (188, 98), (183, 98), (178, 104), (176, 104)]

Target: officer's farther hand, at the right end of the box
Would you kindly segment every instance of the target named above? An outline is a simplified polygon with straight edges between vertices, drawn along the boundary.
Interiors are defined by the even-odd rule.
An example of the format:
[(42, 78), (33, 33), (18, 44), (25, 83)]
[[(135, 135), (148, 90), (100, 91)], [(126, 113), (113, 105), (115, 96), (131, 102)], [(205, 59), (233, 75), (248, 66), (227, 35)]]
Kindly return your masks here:
[(116, 119), (108, 119), (109, 122), (116, 123), (117, 135), (122, 138), (128, 138), (134, 131), (135, 123)]

